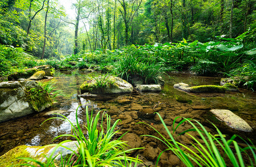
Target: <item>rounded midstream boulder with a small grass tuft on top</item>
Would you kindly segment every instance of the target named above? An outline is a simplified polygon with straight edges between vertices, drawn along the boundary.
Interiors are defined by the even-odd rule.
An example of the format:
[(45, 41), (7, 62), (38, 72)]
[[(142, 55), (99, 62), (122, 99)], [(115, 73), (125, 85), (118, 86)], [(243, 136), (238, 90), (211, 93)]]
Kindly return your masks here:
[(89, 78), (80, 86), (81, 94), (89, 92), (91, 94), (120, 94), (130, 93), (132, 85), (120, 77), (98, 76)]

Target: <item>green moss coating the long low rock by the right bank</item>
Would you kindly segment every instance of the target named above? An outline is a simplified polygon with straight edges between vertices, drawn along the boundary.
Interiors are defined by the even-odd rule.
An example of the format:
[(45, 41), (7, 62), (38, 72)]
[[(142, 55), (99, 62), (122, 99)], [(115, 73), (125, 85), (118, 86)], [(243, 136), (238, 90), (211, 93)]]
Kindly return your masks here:
[(201, 86), (189, 87), (189, 92), (193, 92), (193, 93), (201, 93), (201, 92), (224, 93), (225, 91), (226, 91), (226, 87), (216, 86), (216, 85), (201, 85)]

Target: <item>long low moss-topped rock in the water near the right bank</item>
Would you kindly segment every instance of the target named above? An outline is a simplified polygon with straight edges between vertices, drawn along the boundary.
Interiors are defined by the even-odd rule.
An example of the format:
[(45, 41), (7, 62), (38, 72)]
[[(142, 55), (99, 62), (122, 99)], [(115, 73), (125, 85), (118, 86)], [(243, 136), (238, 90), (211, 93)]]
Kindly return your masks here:
[(226, 91), (239, 91), (238, 87), (234, 86), (233, 84), (227, 83), (223, 86), (216, 86), (216, 85), (200, 85), (200, 86), (191, 86), (189, 87), (188, 84), (179, 83), (173, 86), (176, 89), (185, 91), (185, 92), (192, 92), (192, 93), (206, 93), (206, 92), (217, 92), (217, 93), (225, 93)]

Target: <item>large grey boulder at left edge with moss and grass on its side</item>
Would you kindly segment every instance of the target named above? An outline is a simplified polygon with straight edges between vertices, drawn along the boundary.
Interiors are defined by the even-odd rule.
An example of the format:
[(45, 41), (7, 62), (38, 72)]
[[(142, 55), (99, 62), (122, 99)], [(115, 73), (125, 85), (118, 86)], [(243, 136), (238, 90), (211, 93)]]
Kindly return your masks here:
[(52, 105), (36, 81), (0, 82), (0, 122), (42, 111)]

